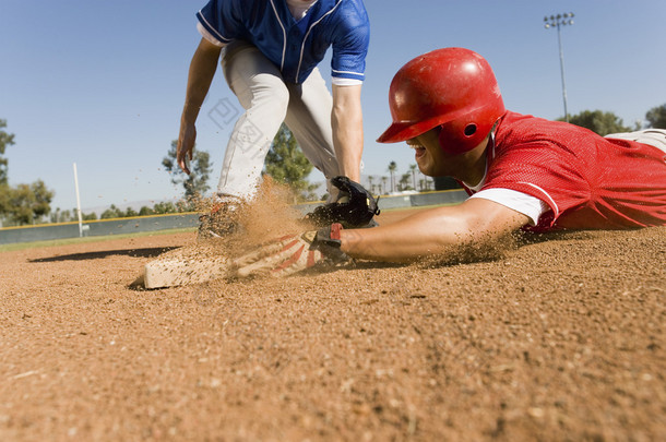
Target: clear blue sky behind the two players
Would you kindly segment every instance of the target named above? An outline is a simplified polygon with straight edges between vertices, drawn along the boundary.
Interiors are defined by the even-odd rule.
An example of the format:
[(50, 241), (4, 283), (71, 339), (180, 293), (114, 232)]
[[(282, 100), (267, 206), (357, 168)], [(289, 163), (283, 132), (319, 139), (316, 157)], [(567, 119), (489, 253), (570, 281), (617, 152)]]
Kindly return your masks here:
[[(666, 103), (662, 0), (366, 0), (371, 44), (364, 84), (365, 175), (414, 163), (404, 144), (374, 140), (390, 123), (393, 74), (419, 53), (447, 46), (476, 50), (493, 67), (508, 108), (563, 115), (557, 32), (543, 19), (574, 12), (562, 28), (570, 114), (613, 111), (627, 126)], [(175, 200), (162, 158), (178, 136), (188, 67), (200, 36), (201, 0), (0, 0), (0, 119), (15, 134), (10, 183), (41, 179), (51, 206), (75, 206), (78, 164), (84, 212), (134, 201)], [(320, 65), (330, 79), (329, 59)], [(239, 109), (219, 71), (198, 122), (198, 147), (218, 179)], [(229, 108), (228, 106), (231, 106)], [(321, 176), (313, 172), (312, 180)]]

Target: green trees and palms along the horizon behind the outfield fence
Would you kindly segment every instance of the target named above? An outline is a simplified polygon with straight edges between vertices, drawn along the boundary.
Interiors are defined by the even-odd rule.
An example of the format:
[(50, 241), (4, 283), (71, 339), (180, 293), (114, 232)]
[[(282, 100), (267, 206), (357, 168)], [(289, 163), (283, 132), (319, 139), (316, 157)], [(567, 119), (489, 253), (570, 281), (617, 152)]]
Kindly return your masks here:
[[(564, 120), (560, 118), (559, 120)], [(570, 116), (569, 122), (590, 129), (599, 135), (629, 132), (640, 129), (666, 129), (666, 104), (654, 107), (645, 114), (645, 122), (633, 128), (625, 126), (621, 118), (614, 112), (602, 110), (583, 110)], [(32, 183), (9, 184), (9, 162), (5, 151), (16, 144), (15, 135), (7, 131), (7, 120), (0, 119), (0, 226), (22, 226), (37, 223), (64, 223), (78, 220), (76, 210), (51, 210), (50, 203), (56, 192), (38, 179)], [(191, 162), (191, 175), (182, 172), (176, 164), (177, 142), (171, 142), (170, 150), (162, 165), (171, 177), (171, 182), (183, 188), (183, 199), (177, 202), (158, 202), (152, 207), (142, 206), (121, 210), (111, 204), (99, 215), (99, 219), (146, 216), (198, 211), (203, 195), (210, 190), (209, 179), (212, 174), (210, 154), (195, 150)], [(275, 181), (288, 186), (294, 193), (294, 202), (324, 200), (328, 195), (317, 195), (317, 184), (308, 181), (312, 165), (307, 160), (289, 129), (283, 124), (275, 135), (266, 156), (263, 174)], [(416, 165), (399, 176), (397, 164), (390, 162), (389, 176), (369, 176), (367, 183), (374, 194), (386, 194), (401, 191), (428, 191), (437, 188), (438, 179), (420, 175)], [(435, 182), (433, 182), (435, 181)], [(449, 186), (449, 184), (447, 184)], [(84, 220), (97, 219), (95, 213), (82, 214)]]

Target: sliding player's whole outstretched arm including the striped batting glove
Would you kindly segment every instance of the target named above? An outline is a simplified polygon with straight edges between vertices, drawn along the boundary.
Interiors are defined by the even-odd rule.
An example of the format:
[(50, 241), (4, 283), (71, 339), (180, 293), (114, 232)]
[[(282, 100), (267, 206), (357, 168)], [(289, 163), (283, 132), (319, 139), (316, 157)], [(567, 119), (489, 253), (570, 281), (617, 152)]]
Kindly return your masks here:
[[(231, 261), (229, 276), (288, 276), (320, 262), (340, 264), (349, 258), (409, 262), (483, 246), (519, 229), (527, 217), (487, 200), (415, 214), (386, 226), (344, 229), (333, 224), (263, 244)], [(464, 250), (464, 249), (463, 249)]]

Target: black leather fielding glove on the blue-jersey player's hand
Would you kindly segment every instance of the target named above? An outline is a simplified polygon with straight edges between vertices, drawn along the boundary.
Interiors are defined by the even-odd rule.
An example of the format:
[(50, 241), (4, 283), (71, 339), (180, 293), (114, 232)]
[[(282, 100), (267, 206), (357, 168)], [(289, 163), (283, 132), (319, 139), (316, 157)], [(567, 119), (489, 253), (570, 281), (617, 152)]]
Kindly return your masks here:
[(379, 215), (379, 207), (366, 188), (347, 177), (335, 177), (331, 183), (340, 189), (340, 199), (317, 207), (306, 216), (307, 220), (318, 226), (341, 223), (344, 228), (377, 226), (377, 223), (371, 222), (374, 215)]

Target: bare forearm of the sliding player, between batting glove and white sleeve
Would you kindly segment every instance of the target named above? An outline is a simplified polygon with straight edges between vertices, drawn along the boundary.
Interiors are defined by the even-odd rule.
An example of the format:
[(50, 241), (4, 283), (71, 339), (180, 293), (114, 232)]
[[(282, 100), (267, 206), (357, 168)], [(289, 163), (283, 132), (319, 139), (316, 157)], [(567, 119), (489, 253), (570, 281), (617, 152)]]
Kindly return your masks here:
[(528, 217), (501, 204), (471, 199), (455, 206), (416, 213), (371, 229), (341, 231), (341, 250), (352, 258), (412, 262), (456, 248), (492, 242), (520, 229)]

